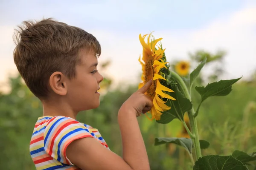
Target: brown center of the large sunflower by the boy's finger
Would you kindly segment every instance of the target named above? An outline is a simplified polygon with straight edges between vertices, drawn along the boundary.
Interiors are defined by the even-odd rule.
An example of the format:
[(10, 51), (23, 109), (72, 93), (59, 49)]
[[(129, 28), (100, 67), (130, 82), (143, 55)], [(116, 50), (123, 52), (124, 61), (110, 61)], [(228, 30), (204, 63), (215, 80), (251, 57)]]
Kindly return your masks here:
[[(153, 68), (154, 58), (152, 56), (148, 57), (148, 62), (145, 64), (145, 82), (153, 79), (154, 77), (154, 68)], [(149, 96), (153, 96), (156, 91), (156, 81), (152, 82), (152, 85), (148, 89), (147, 93)]]

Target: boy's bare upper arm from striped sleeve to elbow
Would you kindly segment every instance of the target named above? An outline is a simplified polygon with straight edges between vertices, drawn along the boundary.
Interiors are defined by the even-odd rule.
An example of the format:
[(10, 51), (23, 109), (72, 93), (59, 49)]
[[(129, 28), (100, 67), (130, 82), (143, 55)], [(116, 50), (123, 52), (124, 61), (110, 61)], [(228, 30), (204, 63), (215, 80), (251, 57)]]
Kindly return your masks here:
[(132, 170), (118, 155), (93, 138), (72, 142), (66, 150), (68, 159), (81, 170)]

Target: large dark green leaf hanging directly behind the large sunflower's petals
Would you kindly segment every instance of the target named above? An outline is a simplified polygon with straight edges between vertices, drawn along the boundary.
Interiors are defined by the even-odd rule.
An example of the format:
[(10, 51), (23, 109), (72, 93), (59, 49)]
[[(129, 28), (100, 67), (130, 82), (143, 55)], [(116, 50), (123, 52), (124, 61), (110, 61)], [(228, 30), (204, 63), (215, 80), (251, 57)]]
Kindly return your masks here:
[(178, 90), (177, 85), (173, 85), (172, 90), (175, 91), (175, 93), (171, 93), (171, 95), (176, 100), (168, 100), (168, 102), (171, 103), (167, 102), (166, 104), (171, 106), (171, 109), (164, 111), (160, 120), (157, 120), (157, 123), (167, 124), (175, 118), (183, 121), (184, 113), (192, 109), (192, 103), (189, 101), (189, 99), (183, 96), (183, 94)]

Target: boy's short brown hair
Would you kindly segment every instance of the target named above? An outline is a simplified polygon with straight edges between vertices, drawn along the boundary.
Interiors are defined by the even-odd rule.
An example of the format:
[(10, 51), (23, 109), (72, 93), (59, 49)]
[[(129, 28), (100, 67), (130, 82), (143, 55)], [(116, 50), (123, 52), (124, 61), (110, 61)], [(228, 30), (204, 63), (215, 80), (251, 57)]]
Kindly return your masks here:
[(101, 54), (101, 46), (92, 34), (52, 18), (24, 21), (15, 31), (15, 65), (30, 91), (41, 99), (48, 96), (49, 77), (55, 71), (69, 79), (76, 77), (79, 51)]

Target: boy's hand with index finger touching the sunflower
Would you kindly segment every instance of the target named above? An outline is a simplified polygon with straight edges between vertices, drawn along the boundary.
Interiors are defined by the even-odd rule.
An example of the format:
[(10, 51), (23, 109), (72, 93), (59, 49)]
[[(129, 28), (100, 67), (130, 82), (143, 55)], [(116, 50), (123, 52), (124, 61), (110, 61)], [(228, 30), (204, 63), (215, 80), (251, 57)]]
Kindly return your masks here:
[(135, 112), (136, 116), (140, 116), (141, 113), (150, 111), (153, 106), (152, 99), (145, 95), (145, 92), (151, 86), (152, 80), (149, 80), (142, 88), (132, 94), (122, 105), (120, 111)]

